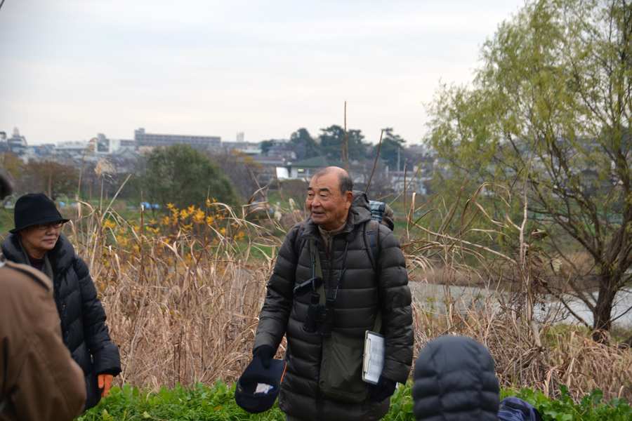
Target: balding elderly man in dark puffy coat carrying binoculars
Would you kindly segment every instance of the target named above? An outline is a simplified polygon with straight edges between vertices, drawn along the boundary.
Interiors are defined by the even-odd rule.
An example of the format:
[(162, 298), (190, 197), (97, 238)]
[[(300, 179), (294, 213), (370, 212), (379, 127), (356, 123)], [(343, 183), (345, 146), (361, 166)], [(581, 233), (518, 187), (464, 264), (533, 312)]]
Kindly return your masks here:
[[(286, 420), (379, 420), (412, 364), (414, 332), (404, 255), (393, 232), (379, 225), (374, 269), (364, 238), (371, 220), (367, 196), (353, 192), (343, 169), (324, 168), (314, 175), (305, 203), (310, 218), (290, 229), (268, 281), (254, 358), (269, 364), (287, 335), (287, 372), (279, 394)], [(314, 275), (322, 283), (305, 283)], [(302, 287), (295, 293), (297, 286)], [(333, 308), (329, 325), (320, 317), (322, 307), (316, 321), (308, 318), (323, 302)], [(381, 319), (381, 329), (376, 319)], [(362, 380), (367, 330), (379, 330), (385, 337), (377, 385)]]

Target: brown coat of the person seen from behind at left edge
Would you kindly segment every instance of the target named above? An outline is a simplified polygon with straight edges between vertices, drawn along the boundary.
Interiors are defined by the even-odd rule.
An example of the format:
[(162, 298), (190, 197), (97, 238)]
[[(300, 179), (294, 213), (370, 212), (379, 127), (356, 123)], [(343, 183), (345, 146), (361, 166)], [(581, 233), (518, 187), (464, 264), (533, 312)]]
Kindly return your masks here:
[(74, 419), (86, 401), (84, 373), (62, 342), (51, 281), (6, 262), (0, 291), (0, 401), (10, 397), (0, 421)]

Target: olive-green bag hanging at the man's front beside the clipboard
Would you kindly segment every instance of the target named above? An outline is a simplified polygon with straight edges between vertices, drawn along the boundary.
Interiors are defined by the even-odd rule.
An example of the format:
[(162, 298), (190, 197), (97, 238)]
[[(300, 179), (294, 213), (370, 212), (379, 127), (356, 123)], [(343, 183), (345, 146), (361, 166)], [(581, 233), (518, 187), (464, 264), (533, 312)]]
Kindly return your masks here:
[(322, 343), (320, 390), (325, 399), (361, 403), (369, 394), (362, 381), (364, 340), (332, 332)]

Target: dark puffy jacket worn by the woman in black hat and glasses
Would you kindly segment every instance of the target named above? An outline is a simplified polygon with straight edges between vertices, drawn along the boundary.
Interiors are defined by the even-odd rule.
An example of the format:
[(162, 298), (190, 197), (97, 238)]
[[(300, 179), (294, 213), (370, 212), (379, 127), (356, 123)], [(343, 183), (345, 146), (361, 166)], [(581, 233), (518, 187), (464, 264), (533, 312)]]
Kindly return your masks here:
[[(2, 242), (7, 260), (26, 262), (18, 235), (11, 234)], [(105, 311), (97, 297), (86, 262), (74, 253), (72, 244), (63, 234), (53, 250), (47, 252), (53, 267), (53, 297), (60, 316), (64, 344), (72, 359), (84, 370), (86, 409), (100, 400), (98, 374), (121, 373), (119, 349), (110, 340), (105, 326)]]

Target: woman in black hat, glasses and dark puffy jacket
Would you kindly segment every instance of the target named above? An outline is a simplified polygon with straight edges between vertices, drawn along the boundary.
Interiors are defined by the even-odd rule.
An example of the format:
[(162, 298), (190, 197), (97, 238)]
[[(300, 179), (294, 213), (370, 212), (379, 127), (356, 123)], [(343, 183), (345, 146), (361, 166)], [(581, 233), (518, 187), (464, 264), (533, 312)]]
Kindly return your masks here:
[(41, 193), (15, 202), (15, 228), (2, 242), (7, 260), (30, 265), (53, 281), (64, 344), (84, 370), (86, 409), (96, 406), (121, 372), (119, 349), (105, 326), (105, 311), (97, 297), (86, 262), (61, 234), (62, 218), (55, 203)]

